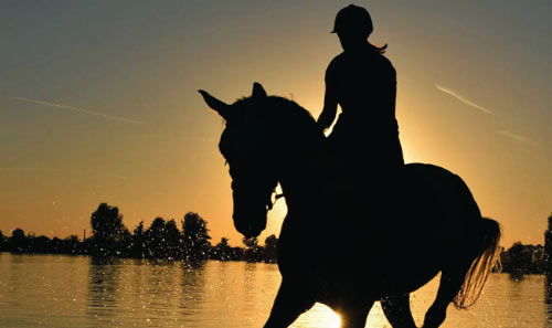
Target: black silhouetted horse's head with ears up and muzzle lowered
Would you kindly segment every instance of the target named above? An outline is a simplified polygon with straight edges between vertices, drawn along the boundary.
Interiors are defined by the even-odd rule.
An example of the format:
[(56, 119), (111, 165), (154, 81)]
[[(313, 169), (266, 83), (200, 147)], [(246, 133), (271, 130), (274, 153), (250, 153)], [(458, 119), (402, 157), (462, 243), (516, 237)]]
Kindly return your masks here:
[(251, 97), (227, 105), (204, 91), (205, 103), (226, 121), (219, 148), (230, 166), (234, 200), (234, 225), (245, 237), (258, 236), (266, 228), (272, 193), (277, 184), (273, 126), (263, 86), (253, 85)]

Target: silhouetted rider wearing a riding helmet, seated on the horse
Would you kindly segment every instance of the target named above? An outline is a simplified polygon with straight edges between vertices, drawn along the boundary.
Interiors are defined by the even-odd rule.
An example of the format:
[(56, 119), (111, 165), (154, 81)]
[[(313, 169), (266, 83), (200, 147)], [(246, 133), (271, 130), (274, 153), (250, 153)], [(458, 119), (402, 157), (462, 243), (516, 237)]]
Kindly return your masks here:
[(386, 45), (376, 47), (368, 42), (372, 30), (364, 8), (350, 4), (338, 12), (332, 33), (337, 33), (343, 52), (326, 71), (318, 125), (322, 130), (330, 127), (339, 104), (342, 113), (328, 137), (337, 154), (361, 170), (368, 166), (389, 171), (404, 165), (395, 119), (396, 73), (382, 55)]

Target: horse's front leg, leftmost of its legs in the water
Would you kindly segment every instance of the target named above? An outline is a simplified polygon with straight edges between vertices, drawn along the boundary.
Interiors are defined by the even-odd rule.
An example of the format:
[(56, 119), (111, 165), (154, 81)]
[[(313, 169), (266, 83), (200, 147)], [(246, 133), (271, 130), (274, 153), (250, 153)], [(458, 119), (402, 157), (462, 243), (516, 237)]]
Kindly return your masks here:
[(264, 328), (286, 328), (312, 305), (315, 298), (305, 284), (283, 279)]

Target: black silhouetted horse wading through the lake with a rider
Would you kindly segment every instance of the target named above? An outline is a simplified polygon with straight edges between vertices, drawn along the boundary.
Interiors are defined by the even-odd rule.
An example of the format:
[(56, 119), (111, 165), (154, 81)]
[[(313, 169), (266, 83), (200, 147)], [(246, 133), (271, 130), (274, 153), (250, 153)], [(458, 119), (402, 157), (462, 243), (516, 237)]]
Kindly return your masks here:
[(219, 149), (236, 230), (261, 234), (277, 183), (288, 208), (277, 252), (282, 284), (265, 328), (288, 327), (315, 303), (340, 314), (341, 327), (360, 328), (378, 300), (392, 327), (413, 328), (410, 293), (438, 273), (424, 328), (440, 326), (450, 303), (475, 304), (498, 263), (501, 231), (481, 218), (458, 176), (408, 163), (396, 182), (342, 188), (347, 170), (336, 167), (325, 135), (297, 103), (268, 96), (258, 83), (232, 105), (199, 92), (225, 120)]

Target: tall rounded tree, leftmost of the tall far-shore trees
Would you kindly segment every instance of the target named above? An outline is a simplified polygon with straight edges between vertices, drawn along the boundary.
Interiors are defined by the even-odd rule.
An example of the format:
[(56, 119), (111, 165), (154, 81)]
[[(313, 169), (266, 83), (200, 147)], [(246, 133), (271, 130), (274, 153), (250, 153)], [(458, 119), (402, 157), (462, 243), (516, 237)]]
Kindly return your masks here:
[(117, 207), (100, 203), (91, 216), (94, 235), (95, 253), (98, 255), (115, 255), (117, 244), (123, 241), (128, 230), (123, 224), (123, 214)]

